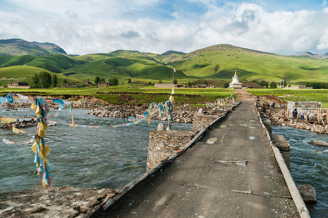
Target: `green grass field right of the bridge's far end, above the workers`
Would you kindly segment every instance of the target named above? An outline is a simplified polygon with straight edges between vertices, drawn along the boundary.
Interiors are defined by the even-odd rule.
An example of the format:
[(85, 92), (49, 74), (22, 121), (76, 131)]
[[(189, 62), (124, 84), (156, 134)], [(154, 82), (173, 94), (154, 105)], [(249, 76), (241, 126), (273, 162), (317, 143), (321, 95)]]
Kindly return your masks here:
[(253, 95), (295, 95), (282, 98), (284, 101), (321, 101), (322, 107), (328, 107), (328, 89), (246, 89)]

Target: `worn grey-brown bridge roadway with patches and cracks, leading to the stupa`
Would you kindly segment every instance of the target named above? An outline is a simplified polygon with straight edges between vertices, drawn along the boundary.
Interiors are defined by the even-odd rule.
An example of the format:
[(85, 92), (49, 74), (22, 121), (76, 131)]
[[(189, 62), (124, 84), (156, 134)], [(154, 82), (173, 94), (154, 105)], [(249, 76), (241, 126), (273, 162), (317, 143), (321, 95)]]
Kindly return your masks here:
[(246, 100), (100, 217), (299, 217), (290, 197), (254, 103)]

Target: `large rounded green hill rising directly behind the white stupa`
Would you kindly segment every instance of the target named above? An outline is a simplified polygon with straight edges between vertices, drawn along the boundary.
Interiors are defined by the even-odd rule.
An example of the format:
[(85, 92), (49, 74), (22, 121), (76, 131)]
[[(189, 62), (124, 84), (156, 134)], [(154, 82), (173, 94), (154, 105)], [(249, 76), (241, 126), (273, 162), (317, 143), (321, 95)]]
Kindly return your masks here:
[(195, 50), (176, 57), (169, 64), (178, 67), (186, 75), (227, 79), (234, 75), (252, 80), (264, 79), (292, 82), (326, 82), (326, 59), (283, 56), (262, 51), (220, 44)]

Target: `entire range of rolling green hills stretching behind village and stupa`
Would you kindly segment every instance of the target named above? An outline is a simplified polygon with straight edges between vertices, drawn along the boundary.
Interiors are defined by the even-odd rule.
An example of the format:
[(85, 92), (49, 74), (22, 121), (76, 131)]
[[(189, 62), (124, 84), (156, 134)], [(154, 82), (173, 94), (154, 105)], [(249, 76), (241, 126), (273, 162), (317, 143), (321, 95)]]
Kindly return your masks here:
[[(46, 45), (44, 45), (46, 48)], [(72, 81), (93, 80), (95, 76), (108, 80), (116, 77), (119, 83), (152, 84), (161, 79), (164, 83), (174, 77), (179, 83), (188, 81), (221, 84), (237, 75), (245, 80), (296, 82), (328, 82), (328, 59), (299, 56), (283, 56), (262, 51), (239, 48), (232, 45), (214, 45), (184, 54), (168, 51), (162, 55), (132, 50), (116, 50), (109, 53), (86, 54), (67, 57), (61, 54), (3, 55), (0, 68), (27, 65), (69, 76)], [(5, 72), (7, 69), (3, 69)], [(16, 72), (19, 73), (19, 72)]]

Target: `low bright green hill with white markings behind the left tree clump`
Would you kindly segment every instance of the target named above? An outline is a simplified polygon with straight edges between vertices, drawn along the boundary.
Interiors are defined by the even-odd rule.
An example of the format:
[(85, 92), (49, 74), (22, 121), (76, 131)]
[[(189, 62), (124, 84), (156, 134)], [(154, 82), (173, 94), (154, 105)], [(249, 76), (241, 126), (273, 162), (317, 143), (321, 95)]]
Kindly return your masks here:
[(67, 79), (69, 81), (72, 80), (71, 77), (57, 74), (42, 68), (38, 67), (31, 67), (27, 65), (18, 65), (18, 66), (11, 66), (6, 68), (0, 69), (0, 84), (1, 86), (7, 86), (8, 81), (21, 81), (21, 82), (29, 82), (32, 81), (32, 76), (36, 72), (46, 71), (49, 72), (51, 75), (56, 74), (58, 77), (58, 83), (62, 81), (62, 79)]

